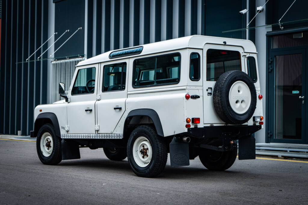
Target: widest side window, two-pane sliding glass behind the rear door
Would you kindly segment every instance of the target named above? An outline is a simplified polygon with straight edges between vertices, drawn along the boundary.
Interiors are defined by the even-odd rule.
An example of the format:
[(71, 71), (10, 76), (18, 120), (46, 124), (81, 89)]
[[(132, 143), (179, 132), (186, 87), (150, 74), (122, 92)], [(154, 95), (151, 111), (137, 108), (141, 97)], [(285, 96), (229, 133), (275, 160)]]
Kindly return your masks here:
[(180, 53), (134, 61), (133, 87), (176, 84), (180, 81)]

